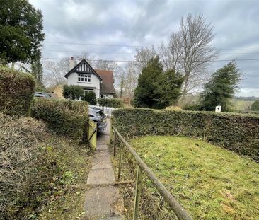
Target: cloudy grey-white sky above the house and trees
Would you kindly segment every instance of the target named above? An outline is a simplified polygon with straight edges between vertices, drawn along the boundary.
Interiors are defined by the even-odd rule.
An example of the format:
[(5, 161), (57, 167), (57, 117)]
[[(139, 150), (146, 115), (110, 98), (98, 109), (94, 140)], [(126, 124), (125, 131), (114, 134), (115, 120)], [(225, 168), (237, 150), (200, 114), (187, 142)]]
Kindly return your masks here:
[(123, 45), (157, 47), (178, 29), (181, 17), (202, 13), (208, 23), (214, 24), (213, 43), (221, 50), (212, 68), (227, 63), (222, 59), (258, 59), (238, 61), (244, 79), (236, 95), (259, 97), (259, 0), (30, 0), (30, 3), (44, 16), (43, 57), (55, 60), (81, 51), (91, 52), (96, 59), (133, 60), (135, 47)]

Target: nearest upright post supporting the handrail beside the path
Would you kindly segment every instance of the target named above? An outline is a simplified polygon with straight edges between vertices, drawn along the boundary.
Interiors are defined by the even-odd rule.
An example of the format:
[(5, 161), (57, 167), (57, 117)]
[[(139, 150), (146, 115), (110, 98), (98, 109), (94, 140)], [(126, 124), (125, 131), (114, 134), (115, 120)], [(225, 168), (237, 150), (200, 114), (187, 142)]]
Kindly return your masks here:
[(140, 199), (141, 190), (142, 190), (142, 175), (143, 175), (142, 168), (138, 165), (133, 220), (137, 220), (139, 217), (139, 199)]

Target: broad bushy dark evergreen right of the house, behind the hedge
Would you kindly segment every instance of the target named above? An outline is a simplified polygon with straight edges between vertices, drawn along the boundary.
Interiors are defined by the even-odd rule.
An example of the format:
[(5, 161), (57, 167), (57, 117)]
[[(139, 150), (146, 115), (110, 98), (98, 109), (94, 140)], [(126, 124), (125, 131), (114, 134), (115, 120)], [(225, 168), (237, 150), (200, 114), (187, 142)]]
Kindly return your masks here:
[(164, 72), (159, 57), (151, 58), (139, 75), (134, 91), (134, 106), (166, 108), (180, 96), (183, 77), (174, 70)]

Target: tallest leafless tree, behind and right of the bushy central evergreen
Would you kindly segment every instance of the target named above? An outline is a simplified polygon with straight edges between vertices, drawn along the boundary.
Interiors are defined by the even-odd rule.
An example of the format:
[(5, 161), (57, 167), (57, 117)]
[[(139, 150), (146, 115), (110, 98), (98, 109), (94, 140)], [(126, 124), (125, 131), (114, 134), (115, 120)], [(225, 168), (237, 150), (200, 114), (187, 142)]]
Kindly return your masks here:
[(202, 15), (181, 18), (180, 28), (168, 42), (159, 46), (164, 69), (178, 69), (185, 81), (183, 99), (187, 93), (198, 91), (209, 79), (209, 64), (217, 58), (218, 50), (212, 45), (214, 27)]

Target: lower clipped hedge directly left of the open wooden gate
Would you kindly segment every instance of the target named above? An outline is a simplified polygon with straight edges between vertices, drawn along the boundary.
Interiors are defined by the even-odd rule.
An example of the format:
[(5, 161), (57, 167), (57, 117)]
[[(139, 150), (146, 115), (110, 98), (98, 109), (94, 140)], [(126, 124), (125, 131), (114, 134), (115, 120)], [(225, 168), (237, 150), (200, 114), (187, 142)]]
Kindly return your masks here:
[(86, 141), (87, 102), (35, 98), (31, 115), (45, 121), (57, 134)]

